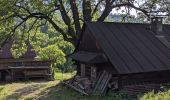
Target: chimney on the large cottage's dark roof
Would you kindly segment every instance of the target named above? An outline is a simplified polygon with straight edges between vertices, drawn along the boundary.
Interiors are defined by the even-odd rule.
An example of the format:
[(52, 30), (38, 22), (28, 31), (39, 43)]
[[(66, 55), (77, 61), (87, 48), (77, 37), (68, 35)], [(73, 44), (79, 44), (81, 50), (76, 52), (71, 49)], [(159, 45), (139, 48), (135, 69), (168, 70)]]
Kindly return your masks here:
[(152, 17), (151, 18), (151, 29), (156, 35), (161, 35), (163, 31), (162, 25), (163, 17)]

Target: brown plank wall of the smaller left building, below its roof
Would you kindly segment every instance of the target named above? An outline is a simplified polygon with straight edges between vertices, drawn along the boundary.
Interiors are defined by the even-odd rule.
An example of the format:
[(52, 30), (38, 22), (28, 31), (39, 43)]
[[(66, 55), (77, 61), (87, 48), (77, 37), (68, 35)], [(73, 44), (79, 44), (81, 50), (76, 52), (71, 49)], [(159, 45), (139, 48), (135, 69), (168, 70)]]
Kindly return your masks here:
[[(18, 80), (33, 77), (50, 78), (51, 62), (50, 61), (31, 61), (31, 60), (9, 60), (9, 62), (0, 63), (1, 75), (0, 80)], [(9, 79), (4, 79), (9, 77)]]

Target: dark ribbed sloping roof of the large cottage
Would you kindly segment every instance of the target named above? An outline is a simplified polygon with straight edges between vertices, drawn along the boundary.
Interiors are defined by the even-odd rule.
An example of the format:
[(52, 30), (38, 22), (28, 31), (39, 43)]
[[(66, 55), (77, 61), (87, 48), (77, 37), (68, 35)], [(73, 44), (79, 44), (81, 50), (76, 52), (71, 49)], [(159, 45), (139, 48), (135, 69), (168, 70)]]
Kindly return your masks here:
[[(148, 29), (149, 24), (87, 22), (86, 26), (119, 74), (170, 70), (170, 49)], [(163, 25), (163, 32), (170, 35), (170, 25)]]

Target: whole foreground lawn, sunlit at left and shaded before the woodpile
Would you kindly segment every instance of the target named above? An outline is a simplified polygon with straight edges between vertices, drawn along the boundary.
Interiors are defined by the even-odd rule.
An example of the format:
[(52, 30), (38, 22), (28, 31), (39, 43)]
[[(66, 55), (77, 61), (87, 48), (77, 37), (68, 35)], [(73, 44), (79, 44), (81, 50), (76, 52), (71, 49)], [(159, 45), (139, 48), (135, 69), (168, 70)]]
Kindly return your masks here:
[[(112, 96), (83, 96), (72, 89), (50, 82), (18, 82), (0, 86), (0, 100), (113, 100)], [(127, 100), (115, 95), (115, 100)], [(118, 99), (122, 98), (122, 99)]]

